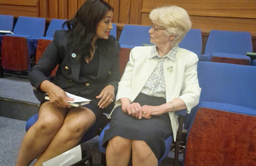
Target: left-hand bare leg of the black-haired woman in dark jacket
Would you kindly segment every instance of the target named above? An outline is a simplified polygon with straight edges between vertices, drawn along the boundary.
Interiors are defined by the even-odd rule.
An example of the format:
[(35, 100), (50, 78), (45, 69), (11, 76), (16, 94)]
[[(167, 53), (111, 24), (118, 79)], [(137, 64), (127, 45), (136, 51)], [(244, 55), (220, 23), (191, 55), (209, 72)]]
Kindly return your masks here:
[(45, 102), (39, 109), (37, 122), (27, 131), (19, 151), (16, 166), (28, 166), (43, 153), (63, 124), (67, 109)]

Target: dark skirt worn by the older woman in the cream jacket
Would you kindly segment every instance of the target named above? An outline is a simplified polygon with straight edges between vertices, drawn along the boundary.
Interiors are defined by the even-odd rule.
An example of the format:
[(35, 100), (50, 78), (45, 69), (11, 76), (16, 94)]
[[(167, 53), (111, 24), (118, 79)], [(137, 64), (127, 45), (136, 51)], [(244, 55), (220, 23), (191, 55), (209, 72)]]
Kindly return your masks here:
[[(166, 103), (162, 97), (147, 96), (139, 93), (134, 102), (143, 105), (158, 106)], [(155, 153), (159, 160), (165, 152), (164, 140), (172, 133), (171, 120), (168, 113), (152, 116), (141, 120), (128, 115), (118, 106), (114, 109), (109, 129), (105, 130), (102, 146), (107, 147), (108, 140), (114, 136), (121, 136), (130, 140), (143, 140)]]

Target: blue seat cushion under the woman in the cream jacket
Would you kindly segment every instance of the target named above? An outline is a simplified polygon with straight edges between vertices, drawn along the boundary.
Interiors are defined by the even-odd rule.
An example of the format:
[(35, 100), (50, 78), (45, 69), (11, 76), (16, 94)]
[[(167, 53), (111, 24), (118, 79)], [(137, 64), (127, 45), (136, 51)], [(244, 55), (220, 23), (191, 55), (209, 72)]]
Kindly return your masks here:
[[(105, 130), (109, 129), (109, 124), (107, 124), (106, 127), (102, 130), (100, 138), (99, 138), (99, 148), (100, 148), (101, 153), (106, 153), (106, 148), (102, 147), (102, 141), (103, 141), (103, 136), (104, 136)], [(169, 154), (172, 141), (173, 141), (173, 135), (171, 134), (171, 136), (169, 136), (167, 139), (165, 139), (166, 149), (165, 149), (163, 157), (158, 161), (158, 164)]]

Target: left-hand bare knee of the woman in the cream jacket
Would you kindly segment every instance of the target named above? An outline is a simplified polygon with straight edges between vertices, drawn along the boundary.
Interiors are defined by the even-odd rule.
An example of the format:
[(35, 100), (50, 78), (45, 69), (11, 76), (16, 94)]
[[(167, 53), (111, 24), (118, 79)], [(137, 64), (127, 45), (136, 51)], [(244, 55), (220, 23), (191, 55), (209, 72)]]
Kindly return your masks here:
[(108, 142), (107, 149), (111, 149), (112, 153), (122, 154), (123, 152), (131, 152), (132, 140), (123, 138), (121, 136), (114, 136)]

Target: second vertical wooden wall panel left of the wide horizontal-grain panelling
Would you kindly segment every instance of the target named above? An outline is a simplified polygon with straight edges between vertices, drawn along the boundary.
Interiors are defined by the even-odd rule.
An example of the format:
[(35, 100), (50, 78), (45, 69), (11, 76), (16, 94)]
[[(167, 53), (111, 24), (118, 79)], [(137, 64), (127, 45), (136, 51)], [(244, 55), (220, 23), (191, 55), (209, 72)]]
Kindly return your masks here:
[(119, 21), (118, 23), (129, 24), (130, 20), (130, 3), (131, 0), (119, 1)]

